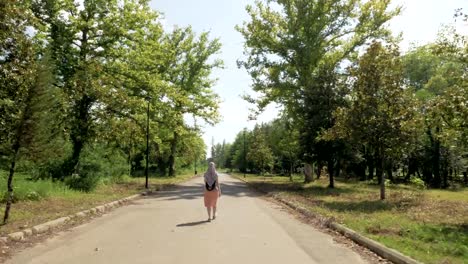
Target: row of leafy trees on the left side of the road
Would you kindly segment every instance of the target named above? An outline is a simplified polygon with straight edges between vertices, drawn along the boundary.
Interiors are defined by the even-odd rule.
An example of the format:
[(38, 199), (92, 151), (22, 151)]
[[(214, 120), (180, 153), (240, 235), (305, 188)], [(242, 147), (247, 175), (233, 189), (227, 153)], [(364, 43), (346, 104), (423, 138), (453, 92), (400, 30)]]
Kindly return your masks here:
[(92, 182), (108, 173), (106, 159), (123, 163), (116, 174), (134, 174), (147, 126), (150, 166), (161, 174), (205, 159), (199, 128), (185, 120), (219, 119), (218, 39), (165, 31), (147, 0), (2, 0), (0, 25), (5, 222), (18, 164), (37, 177)]

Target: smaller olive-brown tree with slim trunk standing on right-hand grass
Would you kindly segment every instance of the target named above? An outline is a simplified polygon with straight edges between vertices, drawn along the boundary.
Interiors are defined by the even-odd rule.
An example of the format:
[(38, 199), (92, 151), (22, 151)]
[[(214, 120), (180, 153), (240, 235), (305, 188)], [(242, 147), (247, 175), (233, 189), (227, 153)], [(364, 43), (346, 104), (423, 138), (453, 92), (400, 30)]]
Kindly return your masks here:
[(349, 109), (339, 108), (326, 137), (343, 138), (371, 149), (385, 199), (384, 166), (405, 151), (417, 127), (416, 109), (403, 88), (397, 49), (374, 42), (351, 70), (355, 79)]

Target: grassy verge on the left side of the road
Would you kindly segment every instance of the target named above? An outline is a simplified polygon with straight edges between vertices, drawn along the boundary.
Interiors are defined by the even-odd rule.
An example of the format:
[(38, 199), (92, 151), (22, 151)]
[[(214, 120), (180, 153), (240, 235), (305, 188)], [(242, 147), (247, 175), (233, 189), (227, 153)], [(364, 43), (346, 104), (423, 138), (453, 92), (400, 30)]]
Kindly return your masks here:
[[(191, 177), (193, 174), (185, 173), (176, 177), (150, 178), (150, 189), (177, 184)], [(140, 193), (144, 190), (144, 183), (144, 178), (125, 177), (115, 182), (103, 182), (95, 191), (85, 193), (70, 190), (60, 182), (29, 181), (26, 175), (18, 174), (14, 180), (18, 201), (12, 205), (9, 223), (0, 226), (0, 236)], [(2, 197), (5, 190), (6, 180), (0, 177)], [(5, 203), (1, 202), (2, 219), (4, 210)]]

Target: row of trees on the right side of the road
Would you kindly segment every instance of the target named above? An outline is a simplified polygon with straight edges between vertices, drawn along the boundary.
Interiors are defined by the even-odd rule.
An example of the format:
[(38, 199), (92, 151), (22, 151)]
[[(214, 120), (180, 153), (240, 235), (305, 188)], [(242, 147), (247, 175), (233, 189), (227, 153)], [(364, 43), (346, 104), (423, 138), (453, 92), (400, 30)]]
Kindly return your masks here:
[[(331, 188), (340, 174), (376, 176), (382, 187), (395, 173), (435, 188), (460, 175), (468, 184), (467, 36), (446, 27), (402, 55), (385, 27), (400, 13), (389, 0), (258, 1), (247, 11), (239, 66), (260, 96), (245, 99), (258, 112), (271, 102), (284, 111), (250, 132), (247, 164), (240, 132), (232, 165), (315, 164)], [(457, 10), (455, 19), (467, 16)]]

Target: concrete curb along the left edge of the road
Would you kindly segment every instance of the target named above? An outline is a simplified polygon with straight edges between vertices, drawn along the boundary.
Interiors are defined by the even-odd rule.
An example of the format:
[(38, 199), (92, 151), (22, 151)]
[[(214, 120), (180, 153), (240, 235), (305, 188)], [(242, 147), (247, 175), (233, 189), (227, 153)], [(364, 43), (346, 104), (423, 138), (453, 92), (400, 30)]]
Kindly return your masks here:
[(20, 231), (20, 232), (11, 233), (11, 234), (8, 234), (7, 236), (4, 236), (4, 237), (0, 237), (0, 241), (2, 243), (7, 243), (9, 241), (13, 241), (13, 242), (23, 241), (23, 240), (26, 240), (27, 237), (29, 237), (29, 236), (36, 235), (36, 234), (43, 234), (43, 233), (48, 232), (49, 230), (53, 230), (53, 229), (55, 229), (57, 227), (60, 227), (60, 226), (62, 226), (64, 224), (66, 224), (67, 222), (69, 222), (71, 219), (84, 218), (84, 217), (86, 217), (88, 215), (93, 215), (93, 214), (97, 214), (97, 213), (105, 213), (106, 211), (110, 211), (113, 208), (123, 206), (129, 201), (135, 200), (135, 199), (140, 198), (140, 197), (145, 196), (145, 195), (147, 195), (146, 192), (143, 192), (141, 194), (135, 194), (135, 195), (132, 195), (132, 196), (129, 196), (129, 197), (125, 197), (125, 198), (110, 202), (110, 203), (106, 203), (106, 204), (103, 204), (103, 205), (100, 205), (100, 206), (96, 206), (96, 207), (91, 208), (89, 210), (84, 210), (84, 211), (75, 213), (73, 215), (69, 215), (69, 216), (61, 217), (61, 218), (58, 218), (58, 219), (55, 219), (55, 220), (51, 220), (49, 222), (33, 226), (32, 228), (25, 229), (25, 230)]

